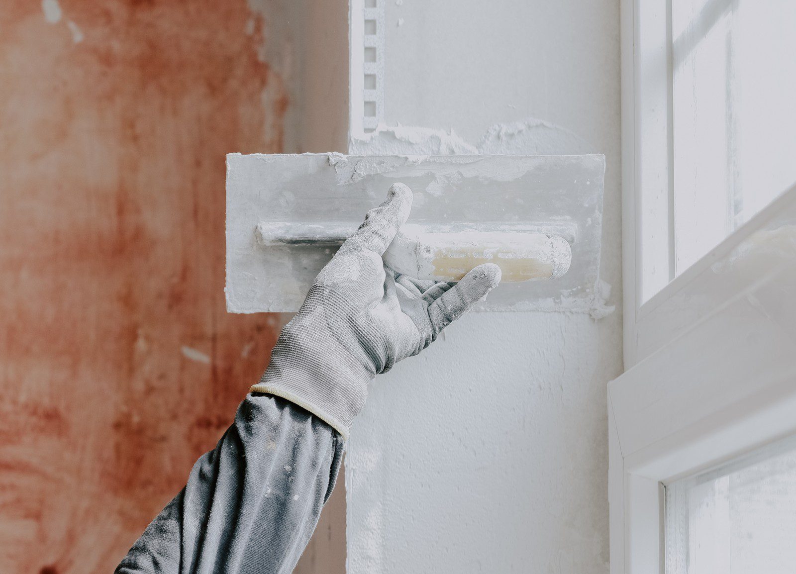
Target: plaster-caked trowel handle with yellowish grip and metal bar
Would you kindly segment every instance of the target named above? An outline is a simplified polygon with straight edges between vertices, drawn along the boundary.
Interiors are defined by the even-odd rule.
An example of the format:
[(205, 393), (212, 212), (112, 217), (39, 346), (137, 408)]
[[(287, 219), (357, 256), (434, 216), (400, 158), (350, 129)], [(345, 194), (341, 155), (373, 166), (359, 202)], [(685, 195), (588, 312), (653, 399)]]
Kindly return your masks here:
[[(346, 224), (263, 222), (256, 237), (265, 246), (336, 247), (354, 231), (356, 227)], [(501, 267), (504, 282), (557, 279), (569, 269), (572, 249), (561, 236), (507, 225), (439, 232), (410, 224), (384, 253), (384, 263), (399, 273), (432, 281), (458, 281), (483, 263)]]

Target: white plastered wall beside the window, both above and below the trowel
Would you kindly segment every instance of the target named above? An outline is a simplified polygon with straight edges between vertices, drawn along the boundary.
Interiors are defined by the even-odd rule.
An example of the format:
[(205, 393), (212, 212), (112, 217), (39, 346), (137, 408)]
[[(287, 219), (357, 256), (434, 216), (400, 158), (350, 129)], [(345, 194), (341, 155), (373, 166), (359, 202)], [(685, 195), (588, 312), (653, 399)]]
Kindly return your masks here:
[[(606, 155), (602, 277), (617, 304), (617, 0), (390, 0), (384, 21), (388, 124), (476, 144), (537, 118), (562, 129), (504, 131), (501, 149)], [(470, 314), (378, 377), (346, 458), (349, 574), (607, 572), (605, 385), (621, 349), (618, 310)]]

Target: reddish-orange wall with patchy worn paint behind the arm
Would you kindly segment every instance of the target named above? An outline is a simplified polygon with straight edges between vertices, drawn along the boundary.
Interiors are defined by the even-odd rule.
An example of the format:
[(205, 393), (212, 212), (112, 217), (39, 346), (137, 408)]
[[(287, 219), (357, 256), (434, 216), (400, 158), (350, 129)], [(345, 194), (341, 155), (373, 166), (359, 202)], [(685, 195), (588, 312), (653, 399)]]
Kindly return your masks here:
[(298, 145), (279, 6), (0, 10), (3, 572), (111, 572), (267, 363), (281, 318), (224, 310), (224, 154)]

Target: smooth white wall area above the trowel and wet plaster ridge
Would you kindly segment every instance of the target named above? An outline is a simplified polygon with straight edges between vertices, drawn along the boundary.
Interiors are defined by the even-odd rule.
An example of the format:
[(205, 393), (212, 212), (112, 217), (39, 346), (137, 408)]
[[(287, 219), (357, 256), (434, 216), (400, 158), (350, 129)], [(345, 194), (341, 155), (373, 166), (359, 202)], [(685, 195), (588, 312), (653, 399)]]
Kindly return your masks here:
[(576, 132), (599, 153), (618, 146), (618, 0), (384, 7), (388, 124), (453, 127), (476, 143), (493, 123), (531, 116)]

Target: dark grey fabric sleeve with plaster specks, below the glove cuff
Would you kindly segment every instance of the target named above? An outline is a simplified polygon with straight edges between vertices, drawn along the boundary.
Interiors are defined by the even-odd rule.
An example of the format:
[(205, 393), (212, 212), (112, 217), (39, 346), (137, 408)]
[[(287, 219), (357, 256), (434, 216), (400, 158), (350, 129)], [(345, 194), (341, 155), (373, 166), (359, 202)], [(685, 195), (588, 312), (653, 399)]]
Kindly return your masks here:
[(303, 408), (248, 395), (116, 572), (292, 572), (334, 488), (343, 446)]

